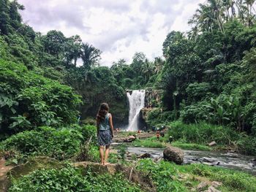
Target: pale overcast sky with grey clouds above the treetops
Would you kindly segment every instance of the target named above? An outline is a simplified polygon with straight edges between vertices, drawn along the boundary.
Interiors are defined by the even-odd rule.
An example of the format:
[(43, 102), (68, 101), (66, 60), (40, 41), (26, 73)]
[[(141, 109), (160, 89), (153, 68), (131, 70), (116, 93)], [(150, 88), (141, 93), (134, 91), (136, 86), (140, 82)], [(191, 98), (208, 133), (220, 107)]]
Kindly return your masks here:
[(135, 52), (153, 60), (172, 31), (187, 31), (187, 21), (205, 0), (19, 0), (23, 22), (46, 34), (56, 29), (78, 34), (102, 50), (101, 64), (110, 66)]

